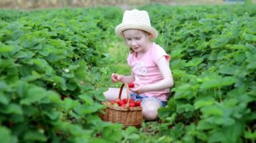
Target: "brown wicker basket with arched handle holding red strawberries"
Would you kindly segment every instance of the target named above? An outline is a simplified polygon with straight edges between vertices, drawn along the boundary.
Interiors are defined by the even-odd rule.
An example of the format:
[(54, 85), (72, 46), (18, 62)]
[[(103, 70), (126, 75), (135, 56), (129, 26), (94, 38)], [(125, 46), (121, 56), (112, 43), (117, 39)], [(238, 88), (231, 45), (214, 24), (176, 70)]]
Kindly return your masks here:
[(139, 128), (142, 124), (142, 107), (129, 107), (129, 87), (127, 84), (121, 85), (119, 99), (121, 99), (124, 85), (127, 88), (127, 104), (125, 107), (115, 107), (114, 105), (109, 105), (108, 101), (104, 101), (102, 104), (107, 107), (103, 109), (105, 113), (99, 113), (99, 116), (104, 122), (120, 123), (125, 128), (128, 126)]

